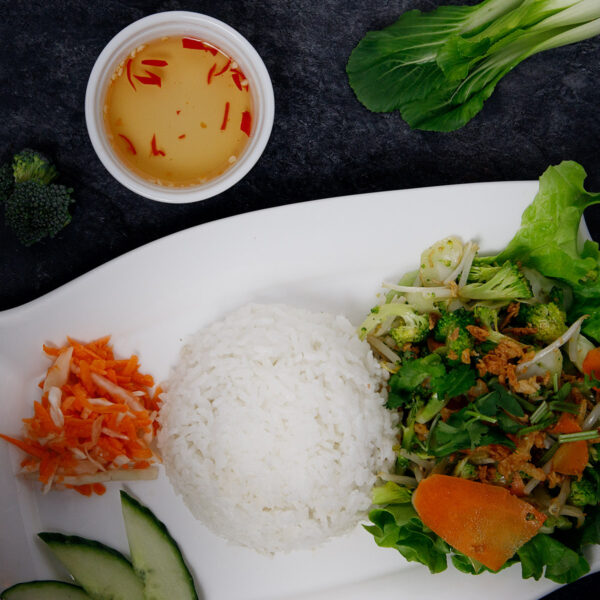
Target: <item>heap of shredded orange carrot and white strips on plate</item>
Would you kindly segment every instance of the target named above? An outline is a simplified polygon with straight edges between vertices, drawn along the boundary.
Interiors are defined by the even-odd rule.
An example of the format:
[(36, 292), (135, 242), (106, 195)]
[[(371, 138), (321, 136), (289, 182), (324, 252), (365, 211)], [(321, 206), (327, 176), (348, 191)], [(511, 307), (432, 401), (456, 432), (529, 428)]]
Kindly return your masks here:
[[(4, 434), (0, 438), (28, 455), (21, 467), (37, 474), (45, 489), (66, 487), (84, 496), (102, 495), (106, 492), (102, 483), (73, 482), (104, 471), (148, 469), (160, 460), (147, 440), (159, 427), (156, 415), (162, 390), (152, 391), (154, 378), (139, 371), (137, 355), (115, 358), (110, 336), (89, 343), (67, 338), (61, 348), (44, 344), (44, 353), (53, 360), (47, 376), (69, 348), (71, 362), (68, 373), (63, 371), (66, 381), (59, 388), (58, 404), (53, 399), (51, 405), (49, 392), (43, 392), (33, 404), (33, 416), (23, 419), (22, 439)], [(54, 382), (49, 381), (46, 390)], [(118, 387), (108, 392), (106, 382)], [(42, 390), (44, 383), (39, 384)], [(69, 484), (63, 483), (65, 478)]]

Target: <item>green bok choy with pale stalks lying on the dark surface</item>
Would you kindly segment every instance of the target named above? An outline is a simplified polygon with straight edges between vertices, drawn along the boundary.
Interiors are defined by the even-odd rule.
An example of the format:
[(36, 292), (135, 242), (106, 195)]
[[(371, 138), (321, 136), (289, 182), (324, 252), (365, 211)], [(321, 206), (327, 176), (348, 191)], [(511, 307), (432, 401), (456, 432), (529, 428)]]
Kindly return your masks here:
[(415, 129), (453, 131), (520, 62), (599, 33), (596, 0), (486, 0), (412, 10), (368, 32), (346, 71), (369, 110), (399, 110)]

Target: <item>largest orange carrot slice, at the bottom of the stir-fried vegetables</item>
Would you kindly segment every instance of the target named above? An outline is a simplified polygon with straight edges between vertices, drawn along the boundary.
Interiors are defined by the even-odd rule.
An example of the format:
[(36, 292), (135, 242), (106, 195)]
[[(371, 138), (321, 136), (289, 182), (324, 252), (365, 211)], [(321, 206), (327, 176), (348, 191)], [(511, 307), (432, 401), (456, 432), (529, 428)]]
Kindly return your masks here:
[(412, 501), (427, 527), (493, 571), (536, 535), (546, 520), (505, 488), (449, 475), (421, 481)]

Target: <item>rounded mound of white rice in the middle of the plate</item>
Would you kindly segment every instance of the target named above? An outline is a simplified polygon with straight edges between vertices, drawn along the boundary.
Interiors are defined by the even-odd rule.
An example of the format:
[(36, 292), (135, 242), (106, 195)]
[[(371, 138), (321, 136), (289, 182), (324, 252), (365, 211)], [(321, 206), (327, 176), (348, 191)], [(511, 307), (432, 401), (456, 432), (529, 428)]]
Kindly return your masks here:
[(314, 548), (365, 517), (393, 464), (383, 380), (345, 317), (245, 306), (195, 334), (166, 384), (169, 479), (232, 542)]

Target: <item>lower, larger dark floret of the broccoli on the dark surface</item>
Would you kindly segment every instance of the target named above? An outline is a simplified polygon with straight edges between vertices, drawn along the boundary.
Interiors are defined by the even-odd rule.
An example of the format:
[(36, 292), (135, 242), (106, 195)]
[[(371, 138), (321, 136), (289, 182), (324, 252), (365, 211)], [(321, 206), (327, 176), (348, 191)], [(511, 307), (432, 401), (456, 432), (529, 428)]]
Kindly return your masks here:
[(71, 222), (72, 191), (62, 185), (38, 181), (16, 183), (4, 206), (6, 224), (25, 246), (54, 237)]

